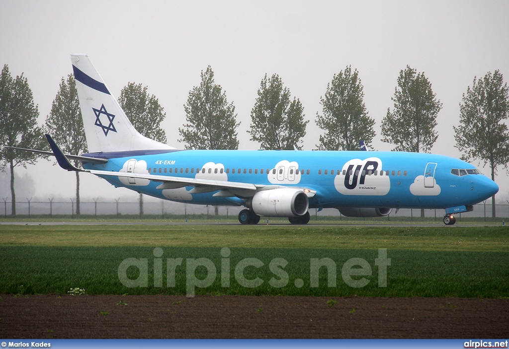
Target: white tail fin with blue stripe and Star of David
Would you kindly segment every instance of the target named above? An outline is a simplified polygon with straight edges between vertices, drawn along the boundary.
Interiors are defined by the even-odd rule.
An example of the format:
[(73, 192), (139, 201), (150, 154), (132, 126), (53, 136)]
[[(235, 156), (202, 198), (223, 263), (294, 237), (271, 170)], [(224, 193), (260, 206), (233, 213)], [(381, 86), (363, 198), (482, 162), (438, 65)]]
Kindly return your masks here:
[(175, 149), (139, 134), (86, 54), (71, 55), (90, 152)]

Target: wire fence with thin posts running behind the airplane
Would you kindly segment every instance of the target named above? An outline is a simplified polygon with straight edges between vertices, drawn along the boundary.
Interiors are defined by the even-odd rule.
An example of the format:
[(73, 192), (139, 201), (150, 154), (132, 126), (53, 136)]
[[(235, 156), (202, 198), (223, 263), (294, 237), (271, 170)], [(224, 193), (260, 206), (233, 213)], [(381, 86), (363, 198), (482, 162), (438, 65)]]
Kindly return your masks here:
[[(3, 215), (5, 217), (11, 216), (11, 202), (8, 199), (3, 198), (3, 202), (0, 201), (0, 205), (3, 204)], [(484, 217), (491, 218), (491, 204), (477, 204), (474, 205), (472, 212), (463, 213), (463, 217)], [(497, 204), (495, 205), (496, 214), (498, 218), (509, 218), (509, 204)], [(243, 207), (231, 207), (231, 206), (219, 206), (218, 214), (226, 216), (236, 216)], [(436, 218), (441, 220), (444, 214), (442, 209), (425, 209), (425, 216), (430, 218)], [(1, 211), (0, 211), (1, 212)], [(80, 202), (80, 214), (88, 216), (117, 216), (122, 215), (139, 215), (140, 218), (144, 215), (154, 216), (159, 215), (164, 218), (166, 215), (185, 215), (188, 214), (207, 214), (213, 215), (215, 208), (213, 206), (204, 205), (193, 205), (193, 204), (182, 204), (172, 201), (160, 200), (160, 201), (148, 201), (144, 200), (143, 212), (140, 210), (138, 201), (121, 201), (117, 199), (115, 201), (81, 201)], [(410, 220), (420, 218), (420, 209), (400, 209), (398, 212), (392, 210), (390, 217), (409, 217)], [(33, 201), (27, 199), (26, 201), (16, 201), (16, 213), (17, 215), (31, 216), (31, 215), (47, 215), (52, 217), (53, 215), (66, 215), (74, 217), (76, 215), (76, 202), (74, 199), (67, 201), (48, 199), (47, 201)], [(341, 216), (341, 214), (335, 209), (326, 209), (318, 212), (315, 209), (311, 209), (310, 213), (312, 216)], [(459, 215), (461, 217), (461, 214)]]

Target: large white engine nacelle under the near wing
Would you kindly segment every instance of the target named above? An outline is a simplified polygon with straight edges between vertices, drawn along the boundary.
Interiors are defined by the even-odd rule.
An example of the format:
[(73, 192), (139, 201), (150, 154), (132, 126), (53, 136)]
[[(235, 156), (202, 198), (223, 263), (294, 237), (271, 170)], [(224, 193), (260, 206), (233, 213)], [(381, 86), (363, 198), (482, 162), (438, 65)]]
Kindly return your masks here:
[(309, 200), (301, 189), (278, 188), (254, 194), (250, 206), (260, 216), (298, 217), (306, 214)]

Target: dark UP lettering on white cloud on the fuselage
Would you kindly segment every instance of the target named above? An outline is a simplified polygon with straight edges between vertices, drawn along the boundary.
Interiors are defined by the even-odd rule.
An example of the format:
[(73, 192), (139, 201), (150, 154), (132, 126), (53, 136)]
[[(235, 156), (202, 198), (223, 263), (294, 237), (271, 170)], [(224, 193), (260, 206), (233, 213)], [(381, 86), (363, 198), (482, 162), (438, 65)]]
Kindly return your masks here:
[(336, 190), (344, 195), (386, 195), (390, 190), (390, 179), (382, 171), (378, 157), (348, 161), (334, 178)]

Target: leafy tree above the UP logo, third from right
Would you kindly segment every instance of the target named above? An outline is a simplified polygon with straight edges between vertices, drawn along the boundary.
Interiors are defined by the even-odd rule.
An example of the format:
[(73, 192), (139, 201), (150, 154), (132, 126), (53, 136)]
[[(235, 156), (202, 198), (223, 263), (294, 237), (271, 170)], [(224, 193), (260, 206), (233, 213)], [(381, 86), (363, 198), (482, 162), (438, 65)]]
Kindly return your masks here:
[(327, 84), (325, 98), (320, 97), (323, 115), (317, 112), (317, 125), (326, 130), (320, 135), (321, 150), (359, 150), (359, 140), (369, 145), (375, 137), (375, 120), (367, 115), (359, 72), (352, 67), (334, 74)]

